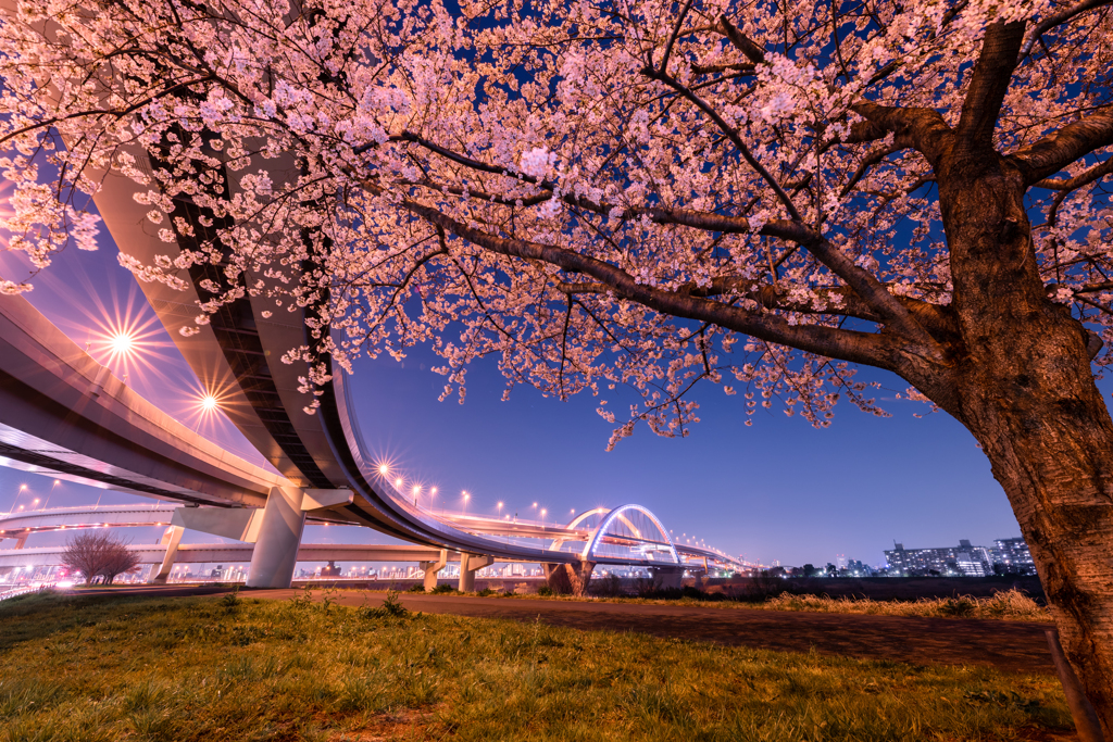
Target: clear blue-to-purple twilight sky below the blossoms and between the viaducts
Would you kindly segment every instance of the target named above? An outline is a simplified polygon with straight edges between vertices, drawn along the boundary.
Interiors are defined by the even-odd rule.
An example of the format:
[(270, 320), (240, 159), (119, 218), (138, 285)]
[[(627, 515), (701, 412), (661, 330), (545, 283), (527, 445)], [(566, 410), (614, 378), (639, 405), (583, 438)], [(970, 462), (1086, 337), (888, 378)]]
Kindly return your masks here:
[[(19, 278), (19, 258), (0, 254), (0, 275)], [(199, 384), (147, 306), (130, 274), (116, 261), (107, 236), (96, 253), (68, 250), (35, 279), (28, 298), (118, 376), (168, 413), (262, 463), (226, 421), (199, 419)], [(0, 297), (0, 301), (4, 298)], [(146, 343), (142, 360), (112, 363), (98, 337), (125, 318)], [(100, 325), (100, 327), (98, 327)], [(893, 417), (877, 418), (841, 405), (834, 425), (812, 429), (799, 416), (776, 408), (743, 425), (745, 400), (707, 386), (700, 424), (688, 438), (660, 438), (641, 428), (604, 451), (611, 425), (595, 415), (591, 397), (568, 403), (520, 387), (501, 402), (503, 379), (493, 363), (469, 373), (467, 400), (437, 402), (442, 377), (435, 357), (415, 349), (404, 363), (363, 360), (354, 379), (364, 438), (408, 477), (439, 488), (439, 506), (469, 512), (531, 516), (532, 504), (548, 518), (567, 521), (571, 508), (639, 503), (679, 538), (692, 535), (731, 554), (771, 563), (823, 564), (837, 555), (870, 564), (883, 561), (893, 540), (907, 546), (988, 544), (1018, 533), (1004, 493), (973, 437), (939, 413), (890, 400)], [(907, 384), (880, 372), (880, 399)], [(20, 495), (20, 485), (28, 489)], [(46, 496), (50, 496), (49, 503)], [(19, 497), (17, 502), (17, 497)], [(61, 483), (0, 468), (0, 511), (50, 505), (124, 503), (120, 493)], [(155, 540), (141, 534), (137, 540)], [(46, 538), (46, 536), (43, 536)], [(211, 541), (211, 536), (204, 536)], [(361, 528), (311, 528), (307, 541), (383, 543)], [(43, 541), (41, 545), (47, 545)]]

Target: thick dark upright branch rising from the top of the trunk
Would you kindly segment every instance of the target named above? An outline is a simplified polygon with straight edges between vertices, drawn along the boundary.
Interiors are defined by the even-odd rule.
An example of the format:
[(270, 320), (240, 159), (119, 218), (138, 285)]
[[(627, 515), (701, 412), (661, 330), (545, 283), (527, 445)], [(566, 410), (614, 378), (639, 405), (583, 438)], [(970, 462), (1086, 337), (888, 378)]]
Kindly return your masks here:
[(1008, 91), (1008, 81), (1016, 68), (1016, 53), (1024, 41), (1024, 22), (991, 23), (982, 41), (974, 77), (971, 79), (963, 112), (955, 133), (968, 149), (985, 150), (993, 146), (1001, 106)]

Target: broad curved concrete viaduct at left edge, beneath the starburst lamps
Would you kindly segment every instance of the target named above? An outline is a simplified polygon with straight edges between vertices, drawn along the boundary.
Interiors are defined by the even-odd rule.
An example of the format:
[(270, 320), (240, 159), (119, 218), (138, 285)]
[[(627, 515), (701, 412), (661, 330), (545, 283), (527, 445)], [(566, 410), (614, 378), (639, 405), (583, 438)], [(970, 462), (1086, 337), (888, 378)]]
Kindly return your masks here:
[(132, 392), (21, 296), (0, 297), (0, 457), (160, 499), (260, 507), (289, 483)]

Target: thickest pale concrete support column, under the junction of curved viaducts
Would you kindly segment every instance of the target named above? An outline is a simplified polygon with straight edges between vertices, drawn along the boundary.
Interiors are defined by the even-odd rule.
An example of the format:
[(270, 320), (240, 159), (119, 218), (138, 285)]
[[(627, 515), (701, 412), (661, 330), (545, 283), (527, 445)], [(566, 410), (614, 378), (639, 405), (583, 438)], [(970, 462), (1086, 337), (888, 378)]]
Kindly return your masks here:
[(248, 587), (289, 587), (305, 530), (304, 491), (272, 487), (247, 571)]

